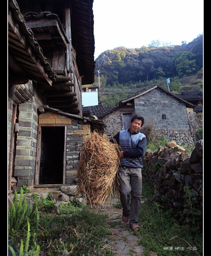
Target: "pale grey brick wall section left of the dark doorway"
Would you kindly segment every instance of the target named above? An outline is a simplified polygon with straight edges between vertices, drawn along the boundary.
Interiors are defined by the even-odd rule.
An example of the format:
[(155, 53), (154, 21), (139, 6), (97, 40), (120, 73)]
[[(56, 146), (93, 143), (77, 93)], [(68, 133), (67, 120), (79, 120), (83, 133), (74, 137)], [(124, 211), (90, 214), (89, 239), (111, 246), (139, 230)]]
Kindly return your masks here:
[(14, 167), (14, 177), (18, 181), (17, 188), (23, 185), (29, 189), (34, 187), (38, 128), (37, 108), (42, 104), (42, 99), (35, 92), (30, 101), (19, 105), (19, 132), (17, 134)]

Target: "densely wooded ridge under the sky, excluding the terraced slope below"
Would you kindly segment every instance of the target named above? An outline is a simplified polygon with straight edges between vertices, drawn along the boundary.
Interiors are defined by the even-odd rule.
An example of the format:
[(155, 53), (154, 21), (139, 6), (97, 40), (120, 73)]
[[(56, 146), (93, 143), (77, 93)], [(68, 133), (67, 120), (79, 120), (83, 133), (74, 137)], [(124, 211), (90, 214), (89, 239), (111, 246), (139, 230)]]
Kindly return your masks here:
[(159, 41), (153, 41), (148, 47), (106, 50), (95, 61), (95, 75), (100, 70), (105, 87), (192, 75), (203, 67), (203, 34), (189, 44), (159, 47)]

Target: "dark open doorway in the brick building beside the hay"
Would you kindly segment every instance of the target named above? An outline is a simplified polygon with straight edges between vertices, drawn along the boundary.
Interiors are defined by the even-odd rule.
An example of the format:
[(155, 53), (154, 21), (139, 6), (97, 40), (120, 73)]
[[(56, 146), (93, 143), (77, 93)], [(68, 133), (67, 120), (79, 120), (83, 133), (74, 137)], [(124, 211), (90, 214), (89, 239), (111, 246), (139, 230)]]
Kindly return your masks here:
[(62, 184), (64, 127), (42, 127), (39, 184)]

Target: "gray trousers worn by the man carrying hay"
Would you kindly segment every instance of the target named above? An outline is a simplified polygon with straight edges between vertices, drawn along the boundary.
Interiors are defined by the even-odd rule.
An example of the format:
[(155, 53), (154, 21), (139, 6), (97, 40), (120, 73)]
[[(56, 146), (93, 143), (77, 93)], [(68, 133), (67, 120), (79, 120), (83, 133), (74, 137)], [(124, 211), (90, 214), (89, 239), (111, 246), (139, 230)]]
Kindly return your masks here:
[[(131, 202), (130, 202), (131, 192)], [(139, 224), (138, 214), (141, 205), (142, 175), (141, 168), (119, 166), (119, 193), (123, 215), (129, 216), (129, 224)], [(130, 202), (130, 207), (129, 207)]]

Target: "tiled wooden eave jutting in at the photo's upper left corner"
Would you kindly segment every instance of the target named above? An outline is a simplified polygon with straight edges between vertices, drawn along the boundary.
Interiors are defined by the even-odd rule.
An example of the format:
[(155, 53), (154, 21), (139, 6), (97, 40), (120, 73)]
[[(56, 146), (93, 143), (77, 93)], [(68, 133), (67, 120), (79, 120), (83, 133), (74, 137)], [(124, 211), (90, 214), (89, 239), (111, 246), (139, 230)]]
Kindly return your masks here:
[(12, 74), (19, 78), (20, 83), (27, 83), (30, 79), (47, 85), (51, 85), (57, 76), (46, 61), (32, 30), (26, 26), (15, 0), (8, 0), (8, 60), (9, 84), (17, 83)]

